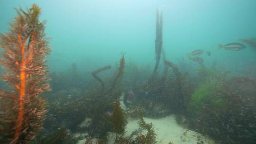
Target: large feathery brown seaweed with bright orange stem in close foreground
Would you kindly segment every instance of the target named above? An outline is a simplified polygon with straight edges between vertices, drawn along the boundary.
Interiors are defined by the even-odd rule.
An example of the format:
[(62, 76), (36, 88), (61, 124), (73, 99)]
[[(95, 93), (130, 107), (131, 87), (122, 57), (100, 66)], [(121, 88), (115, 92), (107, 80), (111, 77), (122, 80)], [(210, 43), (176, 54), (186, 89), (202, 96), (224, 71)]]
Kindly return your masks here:
[(28, 144), (42, 128), (46, 109), (38, 95), (50, 90), (46, 83), (46, 60), (50, 49), (45, 38), (45, 21), (39, 22), (40, 8), (34, 4), (18, 16), (10, 31), (0, 34), (0, 63), (8, 73), (2, 79), (10, 91), (0, 90), (0, 142)]

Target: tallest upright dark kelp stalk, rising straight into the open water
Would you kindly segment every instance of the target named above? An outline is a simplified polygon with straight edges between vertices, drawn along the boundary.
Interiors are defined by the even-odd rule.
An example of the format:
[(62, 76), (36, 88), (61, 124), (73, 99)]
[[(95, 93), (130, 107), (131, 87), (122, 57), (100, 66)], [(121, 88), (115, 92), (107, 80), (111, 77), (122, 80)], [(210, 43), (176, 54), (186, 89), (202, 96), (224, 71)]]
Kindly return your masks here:
[(162, 53), (163, 46), (163, 14), (156, 9), (156, 24), (155, 24), (155, 68), (151, 79), (154, 79), (157, 75), (157, 69)]

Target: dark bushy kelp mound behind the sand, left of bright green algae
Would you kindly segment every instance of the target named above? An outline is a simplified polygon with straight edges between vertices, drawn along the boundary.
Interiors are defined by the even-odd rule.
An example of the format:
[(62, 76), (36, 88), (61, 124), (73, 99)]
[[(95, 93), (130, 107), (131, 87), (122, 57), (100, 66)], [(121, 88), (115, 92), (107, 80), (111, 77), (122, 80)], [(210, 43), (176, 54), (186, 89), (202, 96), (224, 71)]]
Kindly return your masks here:
[(146, 117), (154, 118), (183, 113), (184, 103), (192, 92), (192, 85), (173, 63), (165, 61), (165, 64), (173, 70), (170, 76), (167, 76), (167, 71), (163, 77), (156, 77), (154, 82), (146, 82), (125, 93), (124, 100), (129, 101), (126, 106), (131, 117), (136, 116), (134, 114), (137, 109)]

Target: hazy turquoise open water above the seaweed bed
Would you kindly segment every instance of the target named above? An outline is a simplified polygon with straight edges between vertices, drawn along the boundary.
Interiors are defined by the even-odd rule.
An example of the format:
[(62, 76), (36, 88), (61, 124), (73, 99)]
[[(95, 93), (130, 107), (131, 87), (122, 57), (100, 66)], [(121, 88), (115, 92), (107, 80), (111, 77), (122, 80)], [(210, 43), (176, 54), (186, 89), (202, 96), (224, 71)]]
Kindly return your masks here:
[(127, 60), (153, 67), (158, 8), (163, 11), (163, 48), (170, 61), (187, 60), (187, 53), (203, 49), (211, 52), (203, 56), (205, 65), (214, 62), (234, 74), (255, 76), (249, 72), (256, 62), (252, 49), (217, 50), (219, 43), (255, 37), (255, 0), (0, 0), (0, 32), (8, 31), (16, 16), (13, 8), (33, 3), (41, 7), (51, 38), (50, 71), (65, 71), (77, 63), (82, 72), (91, 72), (116, 63), (123, 52)]

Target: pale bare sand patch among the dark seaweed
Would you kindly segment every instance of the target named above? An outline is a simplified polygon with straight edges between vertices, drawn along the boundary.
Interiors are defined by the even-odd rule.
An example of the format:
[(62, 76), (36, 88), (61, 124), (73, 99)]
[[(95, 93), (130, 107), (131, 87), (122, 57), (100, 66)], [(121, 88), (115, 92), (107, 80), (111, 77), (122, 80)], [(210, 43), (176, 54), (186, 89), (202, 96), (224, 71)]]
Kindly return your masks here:
[[(157, 144), (169, 144), (170, 142), (172, 144), (197, 144), (200, 141), (204, 142), (203, 144), (215, 144), (210, 138), (178, 125), (174, 115), (158, 119), (144, 117), (144, 120), (146, 123), (153, 124)], [(138, 128), (137, 121), (138, 119), (128, 118), (127, 136)]]

